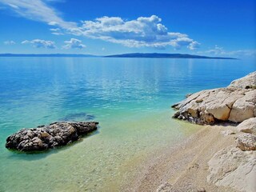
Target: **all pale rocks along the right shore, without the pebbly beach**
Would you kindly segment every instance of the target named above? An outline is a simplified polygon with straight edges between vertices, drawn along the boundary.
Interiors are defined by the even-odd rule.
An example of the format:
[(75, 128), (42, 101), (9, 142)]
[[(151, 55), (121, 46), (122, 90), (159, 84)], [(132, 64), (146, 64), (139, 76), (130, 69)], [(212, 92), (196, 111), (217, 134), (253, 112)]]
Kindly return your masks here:
[[(233, 124), (232, 130), (222, 131), (222, 136), (233, 137), (235, 144), (223, 147), (210, 158), (206, 180), (238, 191), (255, 191), (256, 71), (234, 80), (226, 88), (189, 94), (172, 107), (178, 110), (173, 118), (199, 125), (240, 123), (238, 126)], [(160, 187), (158, 191), (172, 191), (173, 187), (170, 185), (169, 190)]]

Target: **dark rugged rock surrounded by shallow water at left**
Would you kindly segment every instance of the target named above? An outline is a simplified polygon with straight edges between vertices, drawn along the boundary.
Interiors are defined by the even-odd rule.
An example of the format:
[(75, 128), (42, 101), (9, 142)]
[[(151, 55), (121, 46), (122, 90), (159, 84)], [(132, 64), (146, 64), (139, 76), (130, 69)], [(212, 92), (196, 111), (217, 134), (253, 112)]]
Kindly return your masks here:
[(35, 151), (65, 146), (97, 130), (97, 125), (98, 122), (53, 122), (49, 126), (22, 129), (6, 138), (6, 148)]

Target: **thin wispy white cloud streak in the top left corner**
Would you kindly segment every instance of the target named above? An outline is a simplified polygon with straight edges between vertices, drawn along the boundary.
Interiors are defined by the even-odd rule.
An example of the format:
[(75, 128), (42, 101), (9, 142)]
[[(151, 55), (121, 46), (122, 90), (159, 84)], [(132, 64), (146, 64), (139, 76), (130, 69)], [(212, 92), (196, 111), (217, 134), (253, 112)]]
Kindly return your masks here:
[(48, 6), (42, 0), (0, 0), (2, 4), (10, 7), (18, 15), (35, 21), (46, 22), (49, 25), (61, 26), (62, 28), (76, 27), (74, 22), (66, 22), (54, 8)]

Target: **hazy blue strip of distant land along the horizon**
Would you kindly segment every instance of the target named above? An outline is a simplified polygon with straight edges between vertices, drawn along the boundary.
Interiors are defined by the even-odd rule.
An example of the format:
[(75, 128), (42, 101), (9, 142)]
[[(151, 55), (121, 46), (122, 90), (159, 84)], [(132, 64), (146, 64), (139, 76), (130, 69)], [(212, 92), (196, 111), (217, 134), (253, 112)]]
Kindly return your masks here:
[(194, 54), (158, 54), (158, 53), (134, 53), (134, 54), (113, 54), (97, 56), (93, 54), (0, 54), (0, 57), (50, 57), (50, 58), (210, 58), (210, 59), (237, 59), (224, 57), (208, 57)]

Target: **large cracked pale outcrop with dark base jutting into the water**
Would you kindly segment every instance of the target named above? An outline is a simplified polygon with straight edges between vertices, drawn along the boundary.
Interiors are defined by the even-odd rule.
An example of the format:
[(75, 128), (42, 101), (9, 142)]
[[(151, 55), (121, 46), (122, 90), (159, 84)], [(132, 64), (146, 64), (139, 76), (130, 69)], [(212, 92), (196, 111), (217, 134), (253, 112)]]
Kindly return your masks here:
[(184, 101), (172, 106), (178, 110), (174, 118), (198, 124), (213, 124), (218, 121), (242, 122), (254, 118), (255, 79), (256, 71), (232, 82), (226, 88), (202, 90), (191, 94)]

